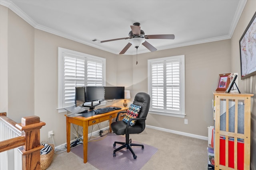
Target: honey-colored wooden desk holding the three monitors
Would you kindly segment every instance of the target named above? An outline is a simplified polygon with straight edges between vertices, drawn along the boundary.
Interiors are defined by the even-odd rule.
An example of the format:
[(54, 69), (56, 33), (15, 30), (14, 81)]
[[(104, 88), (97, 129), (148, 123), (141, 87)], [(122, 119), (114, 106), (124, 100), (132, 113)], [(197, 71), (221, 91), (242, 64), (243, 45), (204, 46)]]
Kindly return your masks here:
[[(107, 106), (110, 107), (110, 106)], [(92, 111), (88, 111), (88, 113), (83, 113), (84, 116), (86, 114), (91, 115), (90, 117), (68, 117), (66, 116), (66, 133), (67, 133), (67, 152), (70, 152), (70, 123), (75, 125), (79, 125), (83, 127), (83, 152), (84, 152), (84, 163), (87, 162), (87, 146), (88, 146), (88, 126), (94, 125), (103, 121), (109, 120), (109, 131), (112, 132), (110, 124), (112, 123), (112, 119), (117, 116), (119, 111), (127, 111), (127, 107), (121, 107), (120, 110), (110, 111), (108, 113), (103, 114), (92, 114)], [(93, 111), (94, 112), (94, 111)]]

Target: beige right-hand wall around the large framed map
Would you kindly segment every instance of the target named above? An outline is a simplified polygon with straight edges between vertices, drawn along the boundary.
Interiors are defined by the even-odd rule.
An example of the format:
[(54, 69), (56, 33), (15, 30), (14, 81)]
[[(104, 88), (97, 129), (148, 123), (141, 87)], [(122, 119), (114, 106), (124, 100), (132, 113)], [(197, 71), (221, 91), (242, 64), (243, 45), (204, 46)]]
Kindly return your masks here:
[(238, 88), (242, 92), (254, 94), (251, 102), (251, 170), (256, 170), (256, 76), (241, 80), (239, 40), (255, 12), (256, 0), (247, 0), (231, 39), (231, 71), (239, 73)]

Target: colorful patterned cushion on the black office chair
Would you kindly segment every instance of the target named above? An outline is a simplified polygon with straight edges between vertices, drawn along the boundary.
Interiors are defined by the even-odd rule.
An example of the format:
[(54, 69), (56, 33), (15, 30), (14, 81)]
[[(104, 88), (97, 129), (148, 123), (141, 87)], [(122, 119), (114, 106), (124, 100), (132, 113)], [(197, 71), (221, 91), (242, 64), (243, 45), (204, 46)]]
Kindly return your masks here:
[[(141, 106), (137, 106), (134, 104), (131, 104), (126, 115), (124, 116), (123, 121), (125, 123), (128, 123), (129, 119), (137, 118), (141, 110)], [(136, 120), (130, 121), (130, 125), (133, 126), (135, 124)]]

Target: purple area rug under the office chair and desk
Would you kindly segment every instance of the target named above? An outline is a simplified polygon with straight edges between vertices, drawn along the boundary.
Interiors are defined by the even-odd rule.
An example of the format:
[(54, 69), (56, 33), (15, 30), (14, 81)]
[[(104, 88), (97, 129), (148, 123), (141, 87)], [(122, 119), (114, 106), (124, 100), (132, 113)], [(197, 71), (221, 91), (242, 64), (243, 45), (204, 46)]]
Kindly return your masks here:
[[(116, 147), (113, 147), (114, 141), (125, 142), (125, 137), (108, 133), (100, 141), (88, 142), (87, 162), (100, 170), (140, 170), (158, 150), (155, 147), (144, 144), (144, 150), (141, 147), (132, 147), (137, 155), (136, 159), (133, 158), (130, 150), (126, 150), (126, 148), (116, 152), (116, 157), (114, 157), (114, 149), (121, 146), (116, 144)], [(140, 142), (132, 141), (132, 143)], [(83, 145), (72, 148), (71, 152), (83, 159)]]

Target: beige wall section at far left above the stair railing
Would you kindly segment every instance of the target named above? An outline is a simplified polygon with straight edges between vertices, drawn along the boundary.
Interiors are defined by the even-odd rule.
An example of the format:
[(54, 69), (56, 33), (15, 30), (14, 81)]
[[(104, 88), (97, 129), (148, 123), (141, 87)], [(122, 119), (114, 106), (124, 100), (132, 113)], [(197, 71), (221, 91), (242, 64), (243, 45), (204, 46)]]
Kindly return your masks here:
[[(1, 76), (1, 98), (2, 91), (8, 92), (8, 96), (6, 98), (3, 94), (4, 98), (0, 106), (2, 107), (3, 100), (7, 100), (8, 117), (20, 122), (21, 114), (22, 116), (34, 114), (34, 27), (6, 9), (1, 6), (1, 27), (4, 21), (4, 25), (8, 28), (1, 30), (1, 37), (5, 37), (5, 41), (1, 41), (0, 48), (4, 54), (1, 53), (0, 58), (6, 59), (4, 63), (1, 61), (1, 66), (4, 66), (4, 71), (7, 70), (1, 74), (8, 76), (3, 81)], [(1, 111), (5, 110), (1, 108)]]

